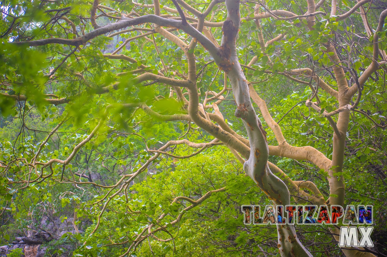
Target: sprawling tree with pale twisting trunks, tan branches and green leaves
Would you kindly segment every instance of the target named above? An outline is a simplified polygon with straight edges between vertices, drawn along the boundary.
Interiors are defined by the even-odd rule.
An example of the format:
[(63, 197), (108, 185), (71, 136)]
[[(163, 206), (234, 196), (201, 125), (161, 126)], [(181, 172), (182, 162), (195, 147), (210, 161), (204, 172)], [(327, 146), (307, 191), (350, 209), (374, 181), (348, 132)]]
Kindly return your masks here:
[[(87, 245), (102, 233), (101, 220), (111, 215), (107, 210), (120, 205), (118, 199), (128, 203), (132, 181), (154, 163), (190, 158), (215, 146), (226, 146), (274, 205), (288, 205), (292, 196), (298, 203), (345, 206), (345, 178), (355, 172), (354, 167), (344, 169), (350, 166), (348, 158), (375, 165), (363, 153), (380, 150), (382, 156), (386, 149), (380, 138), (387, 126), (387, 9), (380, 12), (370, 2), (3, 1), (1, 112), (4, 117), (21, 117), (21, 130), (13, 143), (4, 143), (0, 159), (3, 206), (12, 202), (17, 208), (13, 197), (43, 184), (107, 189), (92, 203), (72, 199), (75, 213), (97, 215), (82, 238)], [(290, 88), (296, 85), (303, 92), (293, 93), (295, 101), (284, 101), (289, 111), (278, 112), (283, 117), (276, 122), (279, 115), (273, 118), (257, 91), (267, 87), (267, 95), (279, 103), (281, 93), (273, 85), (289, 81), (294, 83)], [(292, 114), (301, 103), (310, 112), (304, 118)], [(228, 111), (233, 106), (245, 131), (233, 130), (228, 121), (235, 119)], [(39, 132), (24, 122), (26, 115), (36, 115), (35, 108), (42, 121), (50, 117), (56, 122), (45, 138), (24, 137), (25, 130)], [(282, 120), (284, 130), (278, 124)], [(155, 139), (136, 132), (136, 127), (154, 131), (154, 122), (161, 131), (167, 126), (165, 132), (155, 133)], [(70, 128), (65, 140), (59, 139), (62, 126)], [(299, 131), (294, 127), (301, 128), (301, 135), (292, 135)], [(83, 132), (76, 133), (79, 130)], [(362, 142), (367, 131), (379, 139)], [(54, 135), (58, 138), (52, 139)], [(48, 147), (50, 140), (63, 145)], [(136, 159), (130, 152), (139, 145), (146, 149)], [(176, 155), (184, 147), (198, 150)], [(346, 159), (348, 153), (351, 157)], [(95, 183), (90, 173), (79, 172), (77, 160), (83, 156), (88, 169), (94, 165), (110, 171), (118, 165), (123, 170), (110, 184)], [(325, 174), (327, 184), (324, 179), (313, 183), (307, 174), (292, 178), (268, 161), (281, 162), (272, 156), (311, 163)], [(90, 158), (95, 161), (91, 166)], [(111, 243), (126, 243), (121, 255), (125, 256), (150, 238), (168, 242), (173, 239), (168, 229), (178, 226), (186, 212), (225, 190), (216, 188), (197, 199), (177, 196), (157, 220), (148, 217), (144, 222), (144, 216), (138, 216), (137, 221), (146, 225), (135, 237)], [(62, 200), (63, 206), (67, 203), (70, 200)], [(176, 203), (184, 208), (179, 211)], [(96, 213), (88, 205), (97, 206)], [(125, 215), (139, 213), (128, 208)], [(175, 219), (164, 225), (161, 221), (170, 215)], [(329, 229), (337, 240), (339, 229)], [(277, 225), (277, 233), (281, 256), (312, 256), (293, 225)], [(342, 252), (377, 254), (370, 249)]]

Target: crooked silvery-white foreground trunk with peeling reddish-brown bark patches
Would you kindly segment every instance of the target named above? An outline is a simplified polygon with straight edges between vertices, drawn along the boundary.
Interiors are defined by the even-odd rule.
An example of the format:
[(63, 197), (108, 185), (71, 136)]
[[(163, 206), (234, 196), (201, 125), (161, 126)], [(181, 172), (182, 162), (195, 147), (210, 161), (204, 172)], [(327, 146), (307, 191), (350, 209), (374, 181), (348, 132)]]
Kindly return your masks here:
[[(247, 80), (241, 69), (236, 52), (236, 37), (240, 23), (240, 2), (226, 0), (227, 19), (223, 24), (221, 50), (223, 69), (230, 80), (237, 109), (235, 116), (242, 119), (250, 142), (250, 156), (243, 165), (246, 174), (264, 191), (274, 205), (289, 205), (289, 190), (284, 182), (275, 176), (268, 164), (269, 146), (259, 118), (250, 101)], [(279, 225), (278, 249), (281, 256), (312, 256), (298, 240), (293, 225)]]

